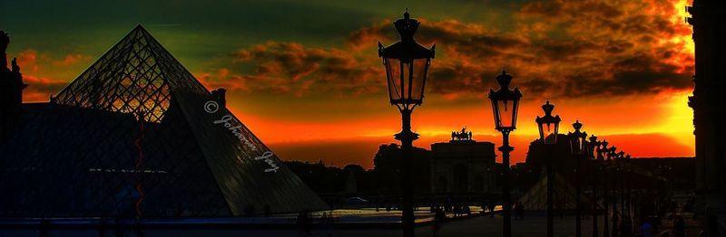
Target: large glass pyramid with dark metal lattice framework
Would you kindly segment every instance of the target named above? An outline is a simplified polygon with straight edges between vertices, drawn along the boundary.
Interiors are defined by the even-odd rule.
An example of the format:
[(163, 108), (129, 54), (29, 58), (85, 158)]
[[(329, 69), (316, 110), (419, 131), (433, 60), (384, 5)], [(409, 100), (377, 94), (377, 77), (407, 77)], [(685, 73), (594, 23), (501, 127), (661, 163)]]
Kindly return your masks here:
[(0, 217), (328, 206), (137, 26), (0, 147)]

